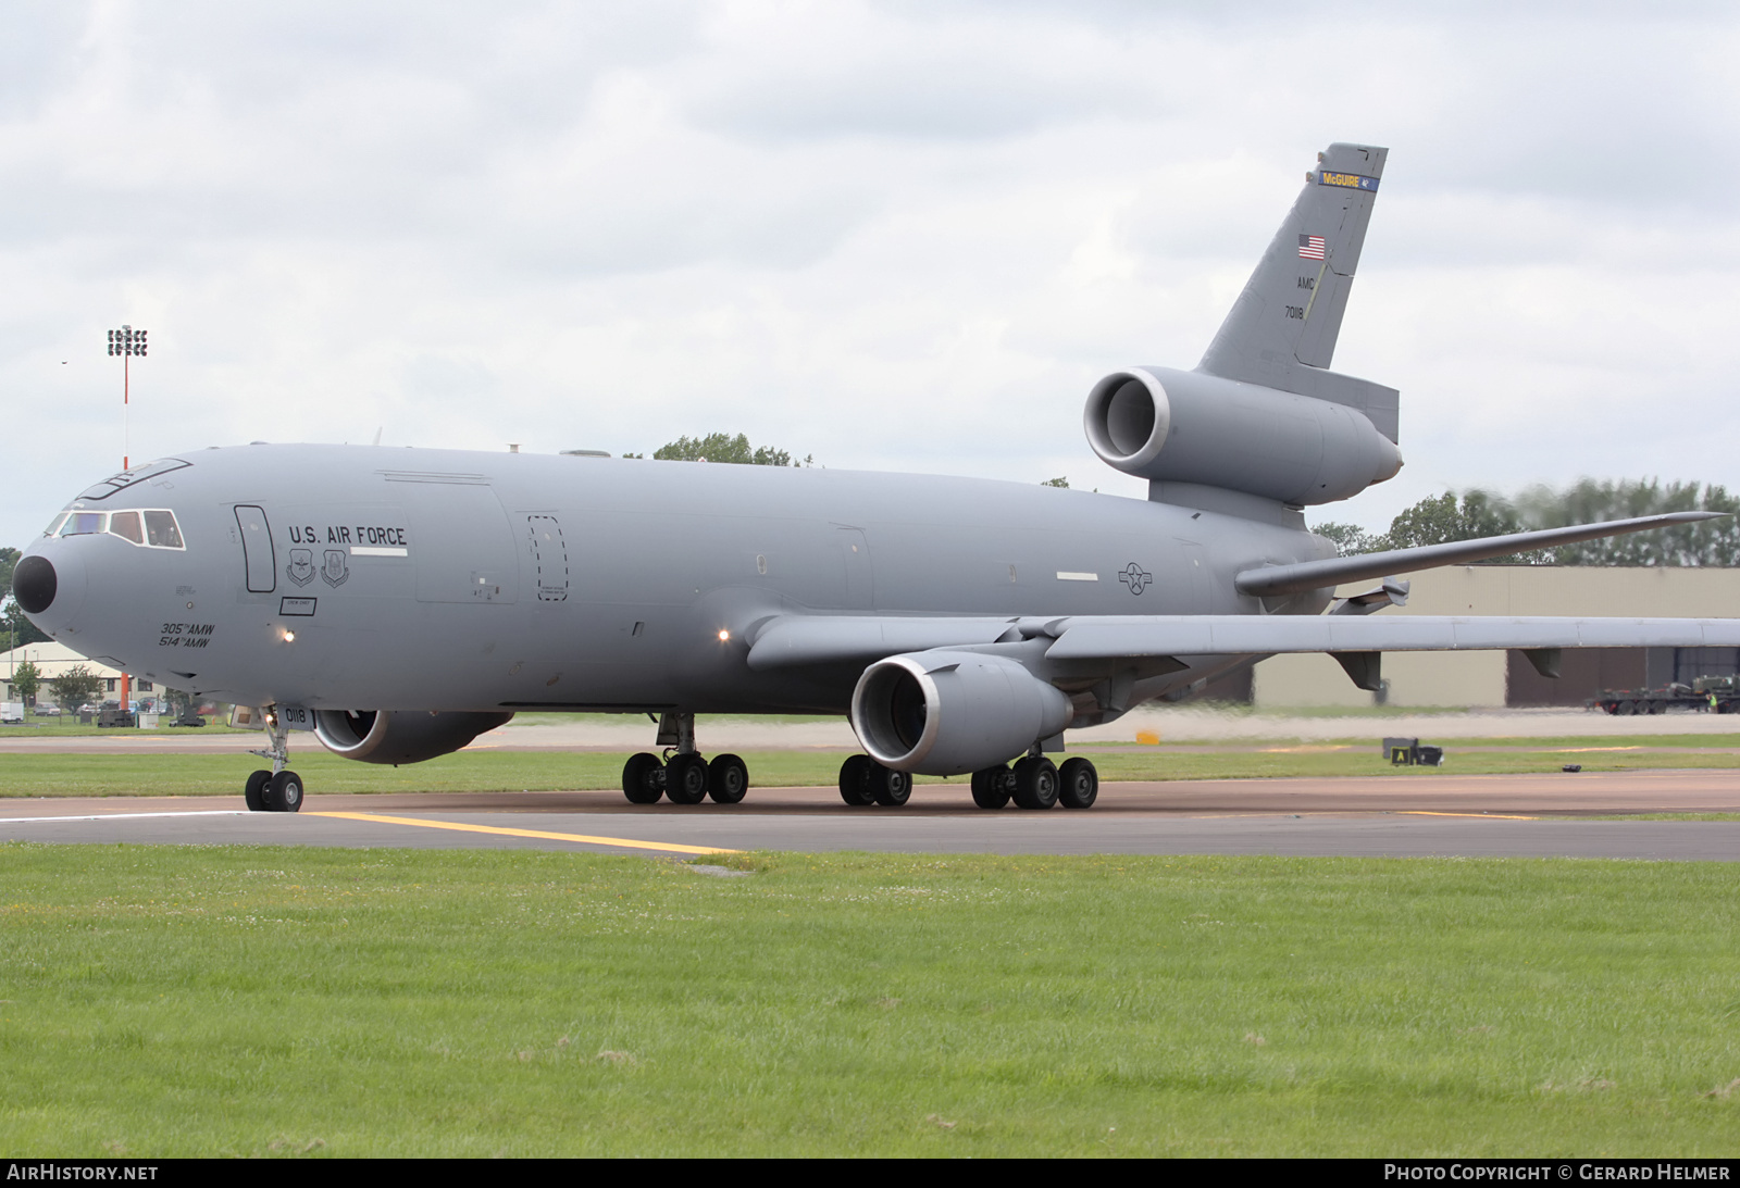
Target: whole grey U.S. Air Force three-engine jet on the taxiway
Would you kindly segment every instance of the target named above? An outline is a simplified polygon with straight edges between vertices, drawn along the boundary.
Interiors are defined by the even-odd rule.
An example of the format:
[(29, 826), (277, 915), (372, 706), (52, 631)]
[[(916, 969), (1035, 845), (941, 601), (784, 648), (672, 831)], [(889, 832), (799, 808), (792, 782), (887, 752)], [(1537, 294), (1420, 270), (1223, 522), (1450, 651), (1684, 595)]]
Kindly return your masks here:
[[(1070, 727), (1277, 652), (1375, 689), (1387, 651), (1740, 645), (1740, 619), (1368, 617), (1416, 569), (1655, 515), (1336, 557), (1303, 508), (1395, 475), (1397, 391), (1328, 370), (1387, 150), (1331, 144), (1194, 370), (1129, 367), (1086, 430), (1147, 499), (926, 475), (338, 445), (207, 449), (84, 491), (19, 562), (44, 631), (259, 706), (254, 809), (296, 811), (289, 732), (414, 764), (519, 710), (658, 715), (635, 804), (734, 804), (696, 713), (847, 713), (854, 805), (973, 774), (987, 809), (1084, 809)], [(1382, 579), (1350, 598), (1342, 583)], [(1014, 760), (1013, 767), (1009, 760)]]

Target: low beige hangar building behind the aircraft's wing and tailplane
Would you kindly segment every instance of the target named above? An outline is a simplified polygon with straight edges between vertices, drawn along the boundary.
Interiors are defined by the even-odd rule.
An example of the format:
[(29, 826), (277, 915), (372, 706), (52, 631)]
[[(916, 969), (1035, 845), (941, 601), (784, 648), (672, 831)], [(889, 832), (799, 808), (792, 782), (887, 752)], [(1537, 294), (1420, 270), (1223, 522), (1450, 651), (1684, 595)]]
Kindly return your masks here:
[[(1378, 614), (1696, 617), (1740, 616), (1740, 569), (1606, 569), (1594, 565), (1455, 565), (1409, 574), (1406, 607)], [(1371, 590), (1362, 581), (1338, 595)], [(1599, 689), (1660, 687), (1740, 671), (1733, 647), (1564, 649), (1559, 677), (1522, 652), (1387, 652), (1383, 694), (1355, 689), (1331, 656), (1275, 656), (1251, 673), (1249, 699), (1265, 708), (1582, 706)]]

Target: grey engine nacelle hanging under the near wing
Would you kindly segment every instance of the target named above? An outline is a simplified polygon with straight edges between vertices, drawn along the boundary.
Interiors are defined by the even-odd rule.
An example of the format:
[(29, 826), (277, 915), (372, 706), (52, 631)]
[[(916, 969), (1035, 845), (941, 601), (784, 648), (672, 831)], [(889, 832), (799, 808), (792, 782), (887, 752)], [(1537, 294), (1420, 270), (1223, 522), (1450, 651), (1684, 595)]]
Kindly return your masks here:
[(865, 670), (853, 729), (894, 771), (959, 776), (1002, 764), (1075, 717), (1070, 699), (1011, 659), (908, 652)]

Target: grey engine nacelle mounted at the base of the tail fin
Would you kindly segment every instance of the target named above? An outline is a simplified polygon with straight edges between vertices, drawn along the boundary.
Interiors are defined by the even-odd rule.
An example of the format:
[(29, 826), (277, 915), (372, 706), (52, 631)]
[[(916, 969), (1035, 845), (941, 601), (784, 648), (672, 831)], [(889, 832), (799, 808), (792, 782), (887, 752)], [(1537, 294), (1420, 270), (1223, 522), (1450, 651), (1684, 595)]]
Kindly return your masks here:
[(1395, 442), (1357, 409), (1169, 367), (1131, 367), (1088, 395), (1088, 444), (1126, 475), (1333, 503), (1392, 478)]

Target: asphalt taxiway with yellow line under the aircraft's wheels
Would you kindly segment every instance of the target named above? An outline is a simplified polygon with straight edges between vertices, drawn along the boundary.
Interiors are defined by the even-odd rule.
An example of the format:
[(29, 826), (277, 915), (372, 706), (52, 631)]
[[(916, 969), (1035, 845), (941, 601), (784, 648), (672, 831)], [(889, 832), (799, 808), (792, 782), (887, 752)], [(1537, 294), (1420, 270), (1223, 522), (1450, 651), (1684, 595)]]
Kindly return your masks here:
[(1740, 821), (1589, 819), (1639, 812), (1740, 814), (1740, 772), (1128, 783), (1105, 784), (1098, 805), (1075, 812), (985, 812), (962, 784), (920, 786), (903, 809), (851, 809), (830, 788), (752, 790), (741, 805), (694, 807), (635, 807), (612, 791), (310, 795), (298, 814), (247, 812), (240, 797), (44, 798), (0, 802), (0, 840), (1740, 859)]

